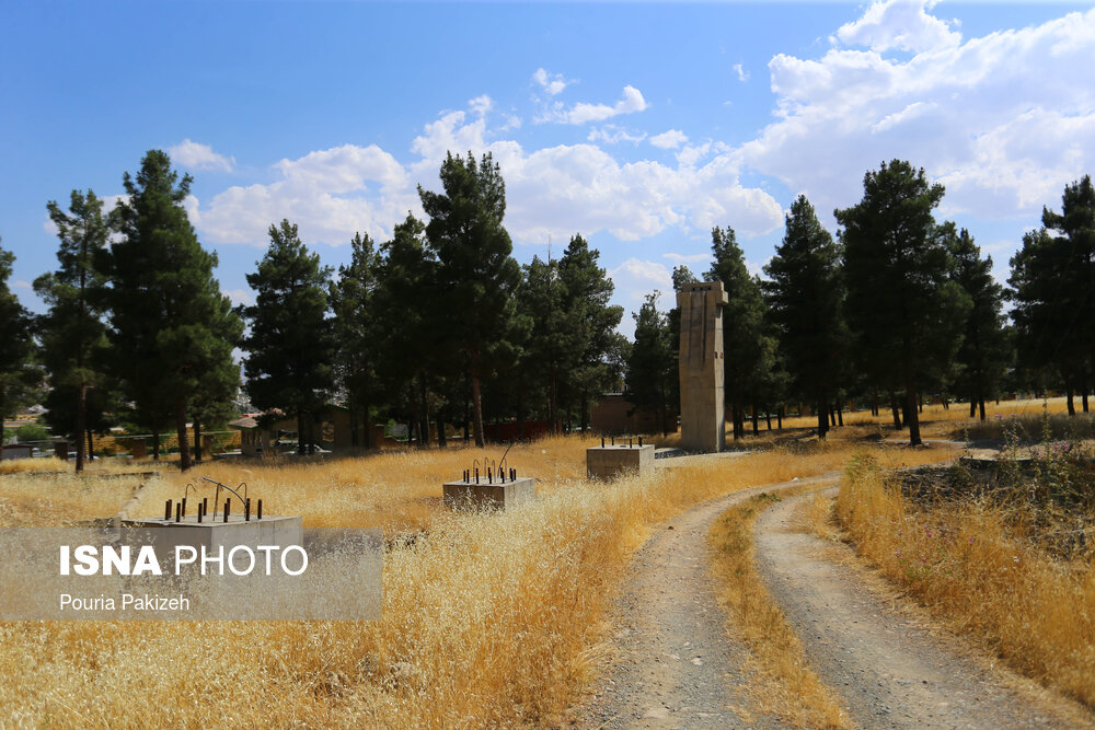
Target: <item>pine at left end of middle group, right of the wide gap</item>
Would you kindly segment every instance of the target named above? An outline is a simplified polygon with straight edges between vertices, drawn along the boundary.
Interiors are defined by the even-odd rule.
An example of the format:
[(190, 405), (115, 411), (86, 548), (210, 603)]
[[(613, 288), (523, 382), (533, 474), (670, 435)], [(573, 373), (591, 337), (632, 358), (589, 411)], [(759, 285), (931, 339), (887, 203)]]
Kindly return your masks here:
[(255, 303), (243, 348), (246, 391), (263, 410), (297, 417), (297, 453), (310, 453), (312, 425), (334, 385), (334, 336), (326, 317), (331, 268), (300, 241), (288, 220), (269, 228), (270, 245), (247, 275)]

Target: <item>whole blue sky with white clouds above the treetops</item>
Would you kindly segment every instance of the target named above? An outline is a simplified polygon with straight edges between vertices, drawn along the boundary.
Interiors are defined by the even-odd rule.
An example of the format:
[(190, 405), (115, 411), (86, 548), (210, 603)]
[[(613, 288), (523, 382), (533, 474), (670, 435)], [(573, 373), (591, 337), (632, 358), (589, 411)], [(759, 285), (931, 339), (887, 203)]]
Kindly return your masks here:
[(337, 266), (473, 150), (502, 165), (518, 260), (580, 232), (629, 312), (676, 264), (706, 270), (713, 225), (758, 271), (797, 194), (835, 230), (891, 158), (947, 186), (938, 217), (1006, 276), (1095, 170), (1090, 3), (8, 0), (0, 34), (0, 245), (34, 310), (46, 201), (117, 196), (151, 148), (194, 175), (234, 301), (272, 222)]

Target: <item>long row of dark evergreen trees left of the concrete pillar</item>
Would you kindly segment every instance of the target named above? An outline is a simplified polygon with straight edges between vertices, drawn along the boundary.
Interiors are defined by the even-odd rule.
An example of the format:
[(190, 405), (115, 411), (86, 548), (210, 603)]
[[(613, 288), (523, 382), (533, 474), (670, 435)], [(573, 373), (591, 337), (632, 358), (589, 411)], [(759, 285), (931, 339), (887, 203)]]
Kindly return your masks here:
[(185, 470), (186, 424), (199, 448), (200, 425), (232, 414), (240, 347), (247, 396), (270, 421), (296, 416), (301, 452), (331, 402), (348, 407), (362, 447), (378, 417), (411, 421), (423, 445), (431, 421), (462, 422), (482, 445), (484, 412), (543, 416), (554, 430), (585, 422), (626, 348), (598, 252), (575, 235), (561, 258), (522, 270), (491, 155), (449, 154), (440, 178), (440, 193), (419, 187), (428, 222), (408, 213), (380, 244), (355, 235), (337, 276), (296, 225), (272, 225), (247, 275), (254, 304), (235, 309), (187, 219), (193, 181), (163, 152), (124, 176), (127, 197), (110, 215), (92, 192), (74, 190), (68, 212), (49, 202), (59, 267), (34, 282), (46, 314), (19, 305), (7, 288), (13, 257), (0, 252), (0, 410), (45, 375), (47, 420), (78, 438), (78, 470), (84, 437), (91, 453), (92, 433), (119, 416), (150, 430), (157, 453), (173, 425)]

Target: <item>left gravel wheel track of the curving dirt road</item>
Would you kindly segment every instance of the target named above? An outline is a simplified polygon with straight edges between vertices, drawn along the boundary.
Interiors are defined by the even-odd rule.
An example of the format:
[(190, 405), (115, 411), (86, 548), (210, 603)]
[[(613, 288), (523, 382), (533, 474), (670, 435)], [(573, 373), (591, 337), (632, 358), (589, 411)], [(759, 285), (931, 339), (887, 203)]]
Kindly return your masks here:
[(629, 565), (612, 616), (610, 656), (596, 695), (577, 708), (578, 727), (781, 727), (757, 714), (742, 690), (746, 649), (726, 633), (726, 614), (712, 584), (707, 531), (744, 499), (814, 482), (739, 491), (657, 529)]

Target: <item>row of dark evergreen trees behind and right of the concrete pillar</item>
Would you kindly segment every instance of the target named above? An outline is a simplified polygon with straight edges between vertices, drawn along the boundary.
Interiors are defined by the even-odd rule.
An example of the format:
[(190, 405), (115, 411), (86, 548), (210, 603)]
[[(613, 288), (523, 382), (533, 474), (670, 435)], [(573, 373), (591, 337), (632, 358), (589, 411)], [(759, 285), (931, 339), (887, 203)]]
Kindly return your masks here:
[[(750, 276), (734, 231), (716, 228), (706, 280), (722, 281), (726, 403), (735, 438), (751, 412), (782, 415), (809, 403), (823, 438), (850, 398), (877, 413), (888, 404), (897, 428), (920, 443), (925, 394), (968, 399), (970, 417), (1003, 387), (1061, 389), (1069, 413), (1095, 373), (1095, 190), (1090, 176), (1065, 187), (1061, 213), (1044, 209), (1042, 227), (1024, 236), (1011, 260), (1010, 289), (991, 275), (991, 257), (969, 232), (933, 215), (944, 195), (906, 161), (864, 177), (863, 199), (834, 215), (837, 240), (799, 196), (783, 242)], [(673, 271), (680, 291), (695, 281)], [(677, 402), (676, 310), (658, 294), (635, 314), (629, 362), (633, 397), (665, 412)], [(1004, 314), (1011, 300), (1012, 324)]]

